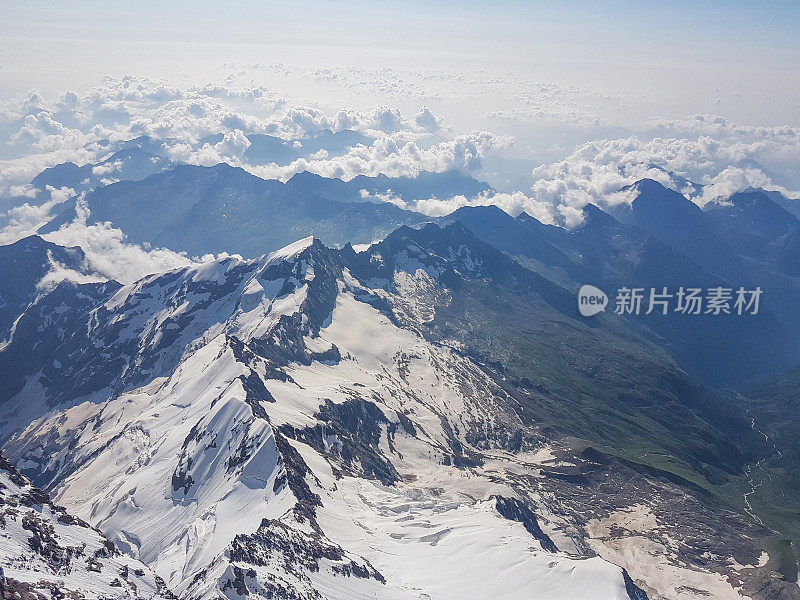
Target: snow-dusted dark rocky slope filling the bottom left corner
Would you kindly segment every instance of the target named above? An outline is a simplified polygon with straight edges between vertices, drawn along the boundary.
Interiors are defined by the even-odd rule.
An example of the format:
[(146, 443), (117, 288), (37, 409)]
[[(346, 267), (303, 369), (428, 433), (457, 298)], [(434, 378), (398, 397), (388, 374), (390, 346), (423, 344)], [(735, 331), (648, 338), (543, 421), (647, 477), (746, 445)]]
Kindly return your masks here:
[(160, 577), (51, 502), (0, 456), (3, 598), (174, 598)]

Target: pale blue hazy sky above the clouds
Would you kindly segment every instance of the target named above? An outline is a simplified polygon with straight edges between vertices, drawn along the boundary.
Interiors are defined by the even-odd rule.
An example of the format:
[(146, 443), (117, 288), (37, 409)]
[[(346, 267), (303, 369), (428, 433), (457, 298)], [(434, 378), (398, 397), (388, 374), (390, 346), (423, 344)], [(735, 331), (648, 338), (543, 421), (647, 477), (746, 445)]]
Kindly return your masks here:
[(800, 124), (798, 2), (3, 0), (0, 13), (3, 96), (104, 74), (203, 80), (223, 62), (280, 60), (514, 71), (638, 95), (675, 118)]

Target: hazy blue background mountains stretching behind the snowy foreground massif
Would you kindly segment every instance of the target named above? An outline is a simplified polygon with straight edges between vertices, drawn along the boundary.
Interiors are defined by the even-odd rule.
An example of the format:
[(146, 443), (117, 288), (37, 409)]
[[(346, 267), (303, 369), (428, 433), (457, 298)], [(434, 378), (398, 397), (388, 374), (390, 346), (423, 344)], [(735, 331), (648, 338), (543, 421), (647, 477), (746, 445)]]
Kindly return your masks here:
[[(400, 225), (432, 220), (389, 203), (352, 202), (363, 189), (397, 190), (411, 198), (426, 195), (421, 190), (480, 193), (484, 186), (455, 172), (350, 182), (301, 173), (281, 183), (223, 164), (181, 165), (142, 181), (100, 187), (85, 201), (90, 222), (110, 221), (137, 243), (195, 256), (235, 252), (255, 257), (306, 235), (331, 245), (363, 244)], [(761, 192), (701, 210), (653, 180), (633, 188), (637, 198), (614, 209), (616, 218), (589, 205), (584, 222), (570, 230), (544, 225), (525, 213), (512, 218), (496, 207), (461, 208), (439, 222), (460, 221), (483, 241), (570, 290), (582, 283), (599, 285), (609, 294), (623, 286), (648, 292), (667, 287), (673, 293), (681, 286), (760, 286), (764, 293), (756, 316), (676, 319), (655, 314), (638, 320), (683, 368), (714, 385), (792, 366), (800, 356), (793, 341), (800, 332), (794, 310), (800, 302), (795, 281), (800, 259), (793, 252), (800, 222)], [(734, 218), (732, 211), (739, 216)], [(65, 210), (42, 231), (71, 219)]]

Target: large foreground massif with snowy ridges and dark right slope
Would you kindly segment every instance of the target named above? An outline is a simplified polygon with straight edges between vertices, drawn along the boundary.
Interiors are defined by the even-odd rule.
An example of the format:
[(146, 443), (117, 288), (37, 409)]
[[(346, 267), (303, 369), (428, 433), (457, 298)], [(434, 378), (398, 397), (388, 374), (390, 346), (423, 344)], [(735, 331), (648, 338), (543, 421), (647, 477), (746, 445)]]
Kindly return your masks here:
[(576, 313), (460, 224), (64, 281), (0, 350), (3, 449), (181, 598), (797, 597), (714, 487), (749, 423)]

